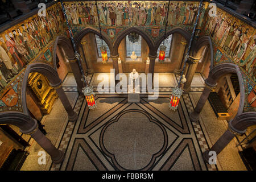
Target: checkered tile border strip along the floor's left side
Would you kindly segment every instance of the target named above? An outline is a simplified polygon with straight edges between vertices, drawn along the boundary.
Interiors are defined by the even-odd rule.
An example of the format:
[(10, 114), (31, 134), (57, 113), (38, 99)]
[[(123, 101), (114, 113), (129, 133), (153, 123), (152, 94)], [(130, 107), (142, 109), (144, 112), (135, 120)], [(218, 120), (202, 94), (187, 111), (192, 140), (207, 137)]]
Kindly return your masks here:
[[(82, 106), (82, 102), (84, 101), (84, 96), (82, 94), (80, 94), (80, 96), (77, 99), (76, 105), (74, 107), (74, 111), (79, 114), (80, 108)], [(64, 131), (63, 137), (61, 138), (61, 142), (59, 144), (58, 149), (63, 151), (65, 153), (65, 151), (67, 150), (68, 147), (68, 143), (69, 140), (71, 139), (71, 135), (73, 132), (73, 129), (75, 127), (76, 122), (68, 122), (68, 125)], [(52, 163), (52, 166), (50, 167), (50, 171), (59, 171), (61, 167), (61, 164), (55, 164)]]

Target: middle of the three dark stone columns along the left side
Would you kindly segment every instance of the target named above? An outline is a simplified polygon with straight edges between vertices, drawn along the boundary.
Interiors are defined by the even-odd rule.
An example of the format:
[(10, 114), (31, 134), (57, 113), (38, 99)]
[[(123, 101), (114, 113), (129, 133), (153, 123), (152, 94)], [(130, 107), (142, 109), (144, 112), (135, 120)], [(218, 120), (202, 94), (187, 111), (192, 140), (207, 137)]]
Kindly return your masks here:
[[(50, 84), (51, 85), (51, 84)], [(68, 97), (67, 95), (65, 94), (61, 84), (59, 85), (51, 85), (53, 88), (55, 88), (59, 98), (60, 98), (60, 101), (62, 102), (65, 110), (67, 111), (68, 113), (68, 119), (69, 121), (76, 121), (77, 118), (78, 118), (78, 115), (75, 113), (75, 111), (73, 110), (69, 100), (68, 100)]]

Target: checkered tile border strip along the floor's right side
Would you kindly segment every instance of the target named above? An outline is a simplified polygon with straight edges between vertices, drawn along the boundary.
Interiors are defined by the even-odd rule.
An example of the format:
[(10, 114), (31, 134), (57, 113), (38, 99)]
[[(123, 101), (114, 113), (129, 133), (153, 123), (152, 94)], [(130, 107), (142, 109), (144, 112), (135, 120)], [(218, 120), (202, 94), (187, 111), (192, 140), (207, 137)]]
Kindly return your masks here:
[[(183, 94), (183, 98), (184, 98), (184, 102), (187, 106), (188, 113), (191, 113), (194, 108), (193, 108), (192, 102), (191, 102), (188, 94)], [(191, 122), (191, 123), (192, 123), (193, 129), (195, 130), (196, 138), (199, 142), (199, 146), (200, 146), (202, 154), (203, 154), (203, 152), (205, 152), (209, 149), (207, 141), (205, 140), (205, 137), (204, 137), (204, 134), (203, 134), (203, 130), (201, 129), (201, 126), (200, 126), (199, 122)], [(207, 164), (207, 168), (208, 168), (209, 171), (216, 171), (217, 170), (215, 165)]]

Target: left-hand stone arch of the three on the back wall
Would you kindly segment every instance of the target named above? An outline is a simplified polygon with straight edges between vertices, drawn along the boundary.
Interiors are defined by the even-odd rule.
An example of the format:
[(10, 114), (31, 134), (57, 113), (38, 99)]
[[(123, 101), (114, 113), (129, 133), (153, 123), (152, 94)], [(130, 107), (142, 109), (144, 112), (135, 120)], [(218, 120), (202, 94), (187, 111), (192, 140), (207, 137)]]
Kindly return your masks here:
[(75, 37), (74, 37), (74, 42), (76, 44), (76, 47), (79, 47), (79, 43), (81, 42), (82, 38), (88, 34), (88, 33), (93, 33), (96, 34), (98, 36), (102, 35), (102, 39), (106, 42), (106, 44), (108, 44), (108, 47), (110, 49), (110, 53), (113, 52), (113, 47), (112, 47), (112, 43), (111, 40), (108, 38), (108, 36), (105, 36), (104, 34), (102, 34), (102, 32), (100, 33), (99, 30), (97, 30), (96, 28), (93, 27), (86, 27), (84, 29), (82, 29)]

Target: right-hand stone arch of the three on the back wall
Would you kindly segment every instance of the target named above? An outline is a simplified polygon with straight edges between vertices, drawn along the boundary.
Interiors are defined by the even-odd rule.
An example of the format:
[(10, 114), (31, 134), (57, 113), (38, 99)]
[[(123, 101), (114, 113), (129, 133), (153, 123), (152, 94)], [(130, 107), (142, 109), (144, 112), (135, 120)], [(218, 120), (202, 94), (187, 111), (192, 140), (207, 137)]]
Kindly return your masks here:
[[(171, 35), (171, 34), (174, 34), (174, 33), (179, 33), (181, 34), (182, 36), (184, 36), (185, 40), (187, 41), (187, 43), (189, 43), (189, 40), (191, 38), (191, 34), (184, 30), (183, 28), (181, 27), (175, 27), (175, 28), (172, 28), (171, 30), (168, 30), (166, 32), (166, 37)], [(164, 35), (160, 36), (160, 38), (156, 41), (155, 43), (155, 47), (154, 47), (154, 55), (156, 54), (156, 52), (158, 51), (158, 47), (160, 46), (160, 44), (163, 42), (164, 40)]]

